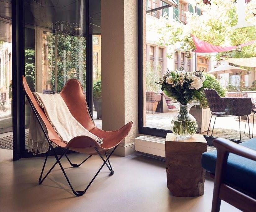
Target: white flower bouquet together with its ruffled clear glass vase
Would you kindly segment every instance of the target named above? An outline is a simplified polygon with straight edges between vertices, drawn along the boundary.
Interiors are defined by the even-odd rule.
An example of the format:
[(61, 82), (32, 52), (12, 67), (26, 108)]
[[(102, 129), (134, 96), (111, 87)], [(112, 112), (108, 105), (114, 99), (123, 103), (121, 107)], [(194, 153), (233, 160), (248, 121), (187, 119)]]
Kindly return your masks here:
[[(195, 134), (197, 130), (197, 122), (195, 118), (189, 114), (192, 106), (199, 104), (193, 99), (201, 99), (200, 92), (207, 85), (207, 80), (201, 70), (187, 72), (184, 68), (169, 71), (156, 82), (161, 86), (162, 91), (175, 100), (169, 105), (174, 105), (179, 114), (171, 120), (171, 130), (173, 134), (181, 138), (189, 138)], [(177, 102), (178, 101), (178, 102)]]

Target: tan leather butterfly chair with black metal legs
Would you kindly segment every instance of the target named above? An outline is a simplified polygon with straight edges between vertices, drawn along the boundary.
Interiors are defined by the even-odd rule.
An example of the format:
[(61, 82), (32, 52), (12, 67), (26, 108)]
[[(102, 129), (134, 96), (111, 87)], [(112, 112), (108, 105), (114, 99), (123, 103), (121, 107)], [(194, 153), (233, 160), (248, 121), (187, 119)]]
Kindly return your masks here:
[[(63, 87), (62, 91), (60, 92), (61, 97), (65, 101), (69, 111), (71, 114), (75, 117), (75, 119), (85, 127), (85, 129), (89, 130), (94, 135), (98, 136), (99, 138), (104, 138), (103, 144), (99, 145), (94, 139), (88, 137), (88, 136), (77, 136), (73, 139), (71, 139), (68, 144), (64, 143), (56, 131), (54, 130), (53, 126), (47, 119), (43, 109), (39, 106), (37, 103), (34, 95), (30, 91), (30, 88), (26, 82), (26, 79), (24, 76), (22, 76), (22, 83), (23, 83), (23, 89), (25, 91), (25, 95), (30, 103), (30, 106), (32, 110), (34, 111), (37, 120), (39, 121), (39, 124), (43, 130), (43, 133), (49, 143), (49, 148), (47, 151), (47, 155), (45, 158), (45, 161), (43, 163), (43, 169), (41, 172), (41, 175), (39, 177), (39, 184), (43, 182), (43, 180), (48, 176), (48, 174), (53, 170), (53, 168), (58, 163), (64, 176), (66, 177), (66, 180), (71, 187), (71, 190), (76, 196), (82, 196), (85, 194), (89, 186), (92, 184), (94, 179), (97, 177), (98, 173), (101, 171), (104, 165), (107, 166), (107, 168), (110, 170), (111, 175), (114, 174), (114, 171), (112, 169), (112, 166), (109, 162), (109, 158), (112, 155), (112, 153), (117, 148), (117, 145), (121, 143), (121, 141), (127, 136), (127, 134), (130, 132), (132, 122), (127, 123), (124, 125), (120, 130), (115, 131), (104, 131), (98, 129), (94, 121), (89, 113), (88, 106), (85, 100), (85, 94), (83, 92), (83, 88), (80, 84), (80, 82), (76, 79), (70, 79), (66, 85)], [(45, 126), (45, 128), (43, 127)], [(46, 129), (46, 130), (45, 130)], [(53, 143), (59, 146), (63, 153), (60, 157), (57, 156), (54, 148)], [(107, 155), (107, 151), (112, 149), (111, 153)], [(53, 166), (50, 168), (50, 170), (47, 172), (47, 174), (43, 177), (43, 170), (45, 168), (45, 164), (48, 158), (49, 151), (52, 150), (54, 153), (54, 156), (56, 158), (56, 162), (53, 164)], [(83, 162), (80, 164), (73, 164), (71, 163), (71, 160), (66, 155), (67, 150), (73, 150), (75, 152), (79, 153), (86, 153), (89, 154), (89, 157), (87, 157)], [(95, 174), (93, 179), (90, 181), (88, 186), (85, 188), (84, 191), (75, 191), (73, 186), (71, 185), (65, 170), (62, 167), (62, 164), (60, 162), (61, 158), (65, 155), (67, 160), (69, 161), (70, 165), (73, 167), (79, 167), (82, 163), (84, 163), (87, 159), (89, 159), (92, 155), (99, 155), (100, 158), (103, 160), (103, 164), (98, 170), (98, 172)], [(105, 154), (106, 159), (103, 158), (103, 155)]]

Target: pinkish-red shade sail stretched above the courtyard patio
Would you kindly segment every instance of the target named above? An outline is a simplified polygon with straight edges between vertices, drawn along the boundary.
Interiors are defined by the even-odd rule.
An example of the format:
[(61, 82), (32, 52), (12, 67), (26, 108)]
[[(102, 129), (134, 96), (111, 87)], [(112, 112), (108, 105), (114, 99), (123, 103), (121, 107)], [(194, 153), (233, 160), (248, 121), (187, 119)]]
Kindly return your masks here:
[[(227, 47), (221, 47), (217, 45), (212, 45), (209, 43), (206, 43), (203, 40), (198, 39), (194, 35), (191, 35), (191, 37), (194, 40), (196, 50), (194, 52), (201, 52), (201, 53), (211, 53), (211, 52), (225, 52), (230, 51), (236, 48), (236, 46), (227, 46)], [(250, 44), (253, 44), (255, 40), (241, 44), (241, 47), (248, 46)]]

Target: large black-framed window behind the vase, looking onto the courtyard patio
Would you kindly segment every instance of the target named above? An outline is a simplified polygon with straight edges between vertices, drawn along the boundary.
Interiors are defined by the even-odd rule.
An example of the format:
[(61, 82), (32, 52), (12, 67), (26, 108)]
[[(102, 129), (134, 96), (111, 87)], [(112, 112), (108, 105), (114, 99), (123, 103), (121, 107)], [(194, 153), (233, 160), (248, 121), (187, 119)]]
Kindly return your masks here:
[[(246, 62), (248, 60), (244, 59), (256, 56), (256, 45), (251, 42), (256, 40), (255, 2), (243, 1), (241, 4), (241, 1), (212, 0), (212, 5), (205, 5), (199, 1), (188, 3), (176, 0), (177, 7), (168, 8), (173, 16), (162, 16), (163, 11), (160, 9), (159, 19), (152, 18), (152, 14), (146, 12), (157, 5), (153, 6), (152, 1), (146, 1), (144, 5), (142, 2), (144, 1), (139, 0), (139, 133), (164, 137), (170, 132), (172, 117), (178, 111), (175, 107), (168, 106), (171, 98), (167, 97), (155, 82), (158, 82), (167, 68), (169, 70), (185, 68), (187, 71), (204, 70), (210, 82), (208, 88), (215, 89), (219, 98), (241, 98), (234, 100), (239, 101), (240, 105), (233, 102), (227, 104), (224, 109), (221, 106), (214, 109), (209, 107), (206, 96), (202, 94), (200, 106), (190, 111), (196, 116), (199, 124), (198, 133), (205, 135), (209, 140), (213, 137), (226, 137), (239, 141), (249, 139), (253, 128), (251, 107), (254, 107), (256, 99), (256, 67), (250, 67), (251, 65)], [(218, 7), (214, 6), (216, 4)], [(236, 26), (237, 22), (232, 18), (238, 16), (236, 11), (238, 6), (239, 11), (245, 10), (246, 27), (241, 24)], [(238, 22), (242, 23), (245, 20)], [(191, 35), (213, 47), (232, 48), (227, 51), (217, 50), (219, 51), (217, 53), (211, 52), (210, 48), (208, 48), (209, 52), (197, 51), (200, 46), (195, 46)], [(234, 68), (224, 70), (226, 65), (232, 65)], [(217, 71), (215, 68), (222, 70)], [(245, 97), (251, 98), (251, 101), (248, 103)], [(229, 101), (229, 99), (220, 101)], [(217, 116), (216, 113), (211, 112), (221, 115)]]

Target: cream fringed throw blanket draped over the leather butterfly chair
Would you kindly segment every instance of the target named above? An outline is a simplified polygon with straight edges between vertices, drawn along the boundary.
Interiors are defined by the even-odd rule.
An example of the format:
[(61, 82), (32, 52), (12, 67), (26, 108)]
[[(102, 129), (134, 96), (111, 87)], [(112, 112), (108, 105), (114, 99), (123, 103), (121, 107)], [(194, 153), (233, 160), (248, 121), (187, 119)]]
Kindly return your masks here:
[[(103, 139), (86, 130), (70, 113), (60, 94), (42, 94), (33, 92), (38, 104), (61, 140), (68, 143), (76, 136), (85, 135), (94, 139), (98, 144), (103, 144)], [(75, 102), (74, 102), (75, 104)], [(33, 111), (32, 111), (33, 113)], [(34, 154), (47, 152), (49, 145), (43, 131), (33, 113), (30, 115), (29, 150)]]

